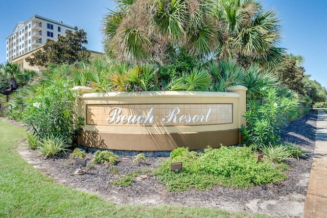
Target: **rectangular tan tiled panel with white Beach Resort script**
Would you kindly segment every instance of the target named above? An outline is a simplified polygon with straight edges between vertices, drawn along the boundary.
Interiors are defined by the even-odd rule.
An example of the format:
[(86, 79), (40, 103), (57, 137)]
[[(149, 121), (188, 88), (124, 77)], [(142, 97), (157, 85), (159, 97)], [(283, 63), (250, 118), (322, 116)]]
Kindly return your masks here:
[(86, 105), (86, 124), (195, 126), (232, 123), (232, 104)]

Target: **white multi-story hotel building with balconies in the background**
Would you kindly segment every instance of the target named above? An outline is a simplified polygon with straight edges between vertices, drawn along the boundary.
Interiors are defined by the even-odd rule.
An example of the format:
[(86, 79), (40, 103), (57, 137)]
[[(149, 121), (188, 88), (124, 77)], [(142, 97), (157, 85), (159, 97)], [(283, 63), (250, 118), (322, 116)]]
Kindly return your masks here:
[(25, 22), (18, 22), (13, 32), (6, 38), (6, 61), (11, 62), (39, 48), (45, 44), (46, 39), (57, 41), (58, 36), (64, 36), (66, 30), (74, 30), (74, 27), (36, 14)]

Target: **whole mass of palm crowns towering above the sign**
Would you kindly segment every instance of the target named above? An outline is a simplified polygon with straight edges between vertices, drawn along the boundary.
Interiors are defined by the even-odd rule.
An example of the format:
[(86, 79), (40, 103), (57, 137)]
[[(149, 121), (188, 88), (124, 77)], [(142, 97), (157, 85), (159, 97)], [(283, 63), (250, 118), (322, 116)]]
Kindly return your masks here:
[(277, 13), (254, 0), (117, 1), (103, 18), (109, 57), (166, 64), (171, 50), (198, 60), (275, 62), (281, 31)]

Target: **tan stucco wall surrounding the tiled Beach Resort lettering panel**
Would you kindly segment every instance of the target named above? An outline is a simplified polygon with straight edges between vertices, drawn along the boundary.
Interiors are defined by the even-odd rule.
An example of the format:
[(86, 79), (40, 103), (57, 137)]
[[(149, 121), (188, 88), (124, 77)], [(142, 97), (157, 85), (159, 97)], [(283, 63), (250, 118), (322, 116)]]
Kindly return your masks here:
[[(231, 87), (232, 92), (131, 92), (131, 93), (85, 93), (78, 104), (79, 115), (90, 116), (88, 105), (210, 105), (231, 104), (232, 122), (226, 124), (194, 123), (194, 125), (140, 125), (118, 124), (116, 126), (85, 125), (78, 143), (82, 146), (111, 150), (171, 151), (178, 147), (191, 150), (213, 148), (240, 143), (238, 129), (244, 124), (242, 115), (246, 110), (246, 88)], [(132, 114), (134, 111), (132, 112)], [(105, 116), (103, 116), (105, 119)]]

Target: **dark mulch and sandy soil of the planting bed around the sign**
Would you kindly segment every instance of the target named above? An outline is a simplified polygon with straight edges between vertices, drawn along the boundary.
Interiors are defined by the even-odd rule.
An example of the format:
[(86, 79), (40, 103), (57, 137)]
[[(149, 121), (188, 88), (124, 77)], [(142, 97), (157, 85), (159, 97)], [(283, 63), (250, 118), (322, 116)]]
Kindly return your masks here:
[[(298, 144), (313, 152), (317, 111), (290, 122), (282, 131), (282, 140)], [(311, 171), (311, 155), (307, 159), (289, 159), (286, 163), (291, 170), (285, 172), (288, 179), (279, 184), (263, 185), (250, 189), (231, 189), (216, 186), (206, 191), (189, 190), (169, 192), (156, 182), (154, 176), (136, 179), (127, 187), (114, 187), (108, 181), (123, 177), (126, 172), (149, 167), (154, 169), (164, 158), (148, 157), (139, 165), (134, 157), (120, 156), (115, 170), (106, 165), (82, 167), (84, 175), (74, 172), (79, 167), (75, 159), (67, 156), (44, 159), (37, 151), (19, 147), (18, 151), (31, 165), (56, 181), (82, 191), (95, 193), (105, 200), (119, 204), (182, 205), (186, 207), (213, 207), (229, 211), (263, 213), (274, 216), (301, 217)], [(87, 163), (94, 154), (87, 154)], [(91, 167), (89, 167), (91, 166)], [(117, 169), (118, 168), (118, 169)]]

